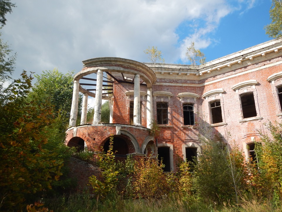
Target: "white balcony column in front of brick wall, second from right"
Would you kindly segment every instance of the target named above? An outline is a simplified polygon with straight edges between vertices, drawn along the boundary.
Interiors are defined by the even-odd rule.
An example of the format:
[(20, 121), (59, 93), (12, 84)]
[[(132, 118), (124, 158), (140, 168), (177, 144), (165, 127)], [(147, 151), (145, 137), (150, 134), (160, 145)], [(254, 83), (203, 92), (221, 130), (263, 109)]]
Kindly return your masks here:
[(134, 107), (133, 107), (133, 124), (141, 125), (140, 115), (140, 75), (134, 77)]

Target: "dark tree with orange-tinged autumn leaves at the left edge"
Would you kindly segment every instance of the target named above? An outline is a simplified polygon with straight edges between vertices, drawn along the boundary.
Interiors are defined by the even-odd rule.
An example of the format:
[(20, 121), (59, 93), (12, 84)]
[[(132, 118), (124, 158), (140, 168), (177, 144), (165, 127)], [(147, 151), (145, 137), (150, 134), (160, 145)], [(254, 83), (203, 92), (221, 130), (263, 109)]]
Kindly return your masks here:
[[(59, 179), (63, 158), (48, 146), (53, 136), (53, 107), (27, 102), (32, 77), (9, 87), (11, 95), (0, 106), (0, 210), (20, 211)], [(53, 137), (52, 137), (53, 138)]]

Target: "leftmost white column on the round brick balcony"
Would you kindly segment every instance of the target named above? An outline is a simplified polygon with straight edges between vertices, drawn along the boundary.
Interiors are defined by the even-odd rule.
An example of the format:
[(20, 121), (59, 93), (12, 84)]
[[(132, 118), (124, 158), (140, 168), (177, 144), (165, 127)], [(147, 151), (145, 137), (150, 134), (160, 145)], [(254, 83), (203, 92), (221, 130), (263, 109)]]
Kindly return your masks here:
[(76, 125), (77, 111), (78, 111), (78, 93), (79, 93), (79, 80), (73, 81), (73, 100), (70, 109), (70, 127)]

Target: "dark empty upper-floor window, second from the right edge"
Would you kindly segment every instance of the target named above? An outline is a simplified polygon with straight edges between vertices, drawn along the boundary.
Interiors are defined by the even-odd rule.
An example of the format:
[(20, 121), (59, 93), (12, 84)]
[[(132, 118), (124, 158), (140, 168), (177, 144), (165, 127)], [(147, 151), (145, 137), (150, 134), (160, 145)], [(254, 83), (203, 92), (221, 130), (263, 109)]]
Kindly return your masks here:
[(253, 93), (247, 93), (240, 96), (243, 118), (256, 116), (256, 104)]

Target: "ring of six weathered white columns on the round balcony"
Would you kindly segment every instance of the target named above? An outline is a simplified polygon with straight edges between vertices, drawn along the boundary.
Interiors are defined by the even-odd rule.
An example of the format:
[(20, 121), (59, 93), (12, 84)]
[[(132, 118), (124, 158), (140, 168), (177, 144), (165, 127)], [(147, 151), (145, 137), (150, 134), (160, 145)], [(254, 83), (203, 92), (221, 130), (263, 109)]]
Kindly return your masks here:
[[(94, 103), (94, 117), (93, 125), (100, 124), (101, 122), (101, 107), (102, 107), (102, 89), (103, 89), (103, 71), (98, 69), (97, 71), (97, 83), (95, 92), (95, 103)], [(76, 125), (77, 114), (78, 114), (78, 98), (79, 98), (79, 80), (73, 82), (73, 100), (70, 110), (70, 123), (69, 126), (73, 127)], [(88, 94), (83, 93), (82, 102), (82, 113), (80, 124), (86, 124), (87, 118), (87, 103)], [(140, 74), (134, 76), (134, 108), (133, 108), (133, 124), (141, 126), (141, 105), (140, 105)], [(147, 128), (150, 128), (153, 114), (152, 114), (152, 88), (147, 88)], [(110, 123), (113, 123), (113, 103), (110, 100)]]

